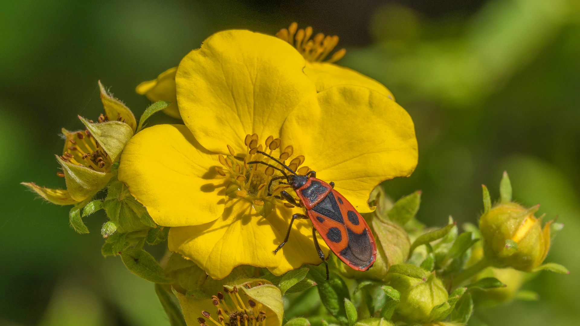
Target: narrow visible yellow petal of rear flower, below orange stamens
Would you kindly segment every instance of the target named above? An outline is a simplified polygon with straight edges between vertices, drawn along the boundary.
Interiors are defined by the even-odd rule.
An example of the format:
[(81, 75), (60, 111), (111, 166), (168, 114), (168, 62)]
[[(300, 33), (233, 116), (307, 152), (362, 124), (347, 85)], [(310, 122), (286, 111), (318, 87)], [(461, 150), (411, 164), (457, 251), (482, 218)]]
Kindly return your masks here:
[(304, 73), (314, 81), (318, 92), (336, 85), (357, 85), (376, 90), (391, 100), (395, 99), (393, 93), (380, 82), (338, 64), (308, 61)]

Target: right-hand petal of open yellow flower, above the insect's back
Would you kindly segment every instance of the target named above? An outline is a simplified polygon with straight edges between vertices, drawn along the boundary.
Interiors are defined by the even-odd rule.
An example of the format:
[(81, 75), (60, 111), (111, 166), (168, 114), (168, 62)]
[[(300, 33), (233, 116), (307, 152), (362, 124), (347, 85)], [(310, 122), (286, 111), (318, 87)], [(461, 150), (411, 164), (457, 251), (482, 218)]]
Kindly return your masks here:
[(409, 176), (417, 164), (411, 117), (396, 102), (361, 86), (334, 86), (300, 103), (282, 127), (282, 140), (305, 155), (317, 178), (361, 213), (383, 180)]

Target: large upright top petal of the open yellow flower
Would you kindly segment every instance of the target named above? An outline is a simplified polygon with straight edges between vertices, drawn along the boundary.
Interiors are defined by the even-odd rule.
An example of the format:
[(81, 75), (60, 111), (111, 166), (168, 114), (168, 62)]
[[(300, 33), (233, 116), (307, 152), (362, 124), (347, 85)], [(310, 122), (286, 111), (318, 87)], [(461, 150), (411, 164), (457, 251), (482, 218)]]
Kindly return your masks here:
[(316, 94), (304, 58), (288, 42), (247, 30), (213, 34), (177, 68), (183, 121), (202, 146), (245, 153), (248, 133), (278, 135), (293, 107)]

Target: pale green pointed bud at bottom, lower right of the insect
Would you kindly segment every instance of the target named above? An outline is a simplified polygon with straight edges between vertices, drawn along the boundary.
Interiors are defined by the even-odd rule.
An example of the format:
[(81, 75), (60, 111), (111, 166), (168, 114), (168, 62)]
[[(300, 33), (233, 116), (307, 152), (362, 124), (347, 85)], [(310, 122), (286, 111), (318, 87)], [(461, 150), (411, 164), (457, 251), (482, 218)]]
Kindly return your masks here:
[(404, 321), (408, 324), (427, 323), (433, 307), (440, 305), (448, 298), (443, 282), (435, 276), (435, 273), (427, 274), (420, 267), (396, 266), (413, 268), (412, 273), (405, 273), (402, 268), (393, 266), (387, 273), (389, 285), (401, 293), (400, 302), (391, 320)]

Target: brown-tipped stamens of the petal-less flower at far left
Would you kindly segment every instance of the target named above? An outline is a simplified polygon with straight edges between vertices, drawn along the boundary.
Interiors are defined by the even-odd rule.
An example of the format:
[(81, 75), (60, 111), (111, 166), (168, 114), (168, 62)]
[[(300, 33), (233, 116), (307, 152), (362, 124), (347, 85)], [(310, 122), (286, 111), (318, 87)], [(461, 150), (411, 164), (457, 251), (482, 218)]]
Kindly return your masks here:
[[(99, 122), (108, 121), (106, 115), (101, 114)], [(90, 120), (93, 123), (92, 120)], [(61, 159), (65, 162), (86, 166), (89, 169), (99, 172), (111, 171), (111, 158), (100, 147), (99, 142), (95, 137), (90, 135), (90, 132), (85, 129), (84, 132), (69, 132), (63, 128), (63, 135), (66, 137), (64, 142), (64, 154)], [(64, 176), (63, 172), (58, 172), (57, 175)]]

